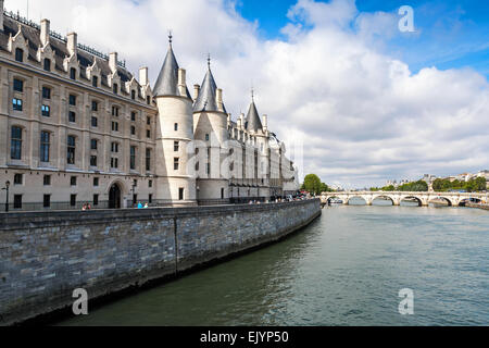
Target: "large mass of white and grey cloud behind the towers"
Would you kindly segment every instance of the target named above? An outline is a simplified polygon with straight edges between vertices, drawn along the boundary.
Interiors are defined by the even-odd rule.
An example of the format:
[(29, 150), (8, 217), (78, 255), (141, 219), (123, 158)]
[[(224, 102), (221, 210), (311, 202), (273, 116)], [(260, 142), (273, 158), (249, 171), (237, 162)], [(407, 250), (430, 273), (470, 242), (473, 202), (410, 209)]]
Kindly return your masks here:
[(353, 0), (299, 0), (281, 30), (287, 39), (264, 40), (226, 0), (42, 0), (30, 8), (54, 29), (78, 32), (83, 44), (118, 51), (133, 72), (148, 65), (152, 82), (172, 29), (190, 86), (201, 83), (211, 53), (234, 117), (246, 112), (253, 85), (272, 130), (303, 141), (303, 173), (327, 183), (362, 187), (488, 167), (487, 79), (469, 69), (413, 74), (383, 47), (399, 36), (393, 13), (359, 13)]

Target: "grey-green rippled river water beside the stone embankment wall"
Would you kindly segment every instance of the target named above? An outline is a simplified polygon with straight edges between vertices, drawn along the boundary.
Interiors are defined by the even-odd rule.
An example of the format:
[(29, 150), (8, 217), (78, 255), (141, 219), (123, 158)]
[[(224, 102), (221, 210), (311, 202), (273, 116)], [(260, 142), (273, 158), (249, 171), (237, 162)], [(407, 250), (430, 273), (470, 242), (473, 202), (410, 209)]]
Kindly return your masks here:
[(279, 244), (59, 324), (489, 325), (489, 212), (385, 204), (327, 207)]

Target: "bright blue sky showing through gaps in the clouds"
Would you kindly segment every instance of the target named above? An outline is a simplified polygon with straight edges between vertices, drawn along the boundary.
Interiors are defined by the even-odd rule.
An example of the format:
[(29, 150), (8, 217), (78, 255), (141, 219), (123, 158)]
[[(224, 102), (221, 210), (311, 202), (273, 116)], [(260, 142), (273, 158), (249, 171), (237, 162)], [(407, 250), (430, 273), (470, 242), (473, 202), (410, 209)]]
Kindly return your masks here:
[[(239, 0), (236, 8), (244, 18), (258, 21), (259, 34), (264, 38), (285, 39), (280, 28), (290, 21), (287, 12), (296, 2)], [(356, 1), (359, 13), (396, 14), (401, 5), (414, 9), (417, 33), (385, 38), (386, 53), (406, 62), (414, 73), (425, 66), (440, 70), (468, 66), (489, 77), (489, 1)]]

